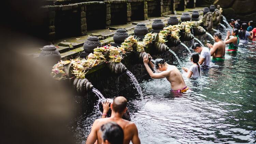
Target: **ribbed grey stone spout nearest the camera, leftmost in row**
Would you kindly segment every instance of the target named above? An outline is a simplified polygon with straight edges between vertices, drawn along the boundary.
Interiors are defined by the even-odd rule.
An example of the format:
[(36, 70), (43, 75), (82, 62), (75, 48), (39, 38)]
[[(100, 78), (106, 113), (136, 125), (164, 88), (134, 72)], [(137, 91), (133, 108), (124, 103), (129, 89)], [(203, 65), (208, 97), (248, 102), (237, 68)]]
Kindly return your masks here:
[(74, 78), (73, 88), (80, 95), (84, 95), (86, 92), (91, 91), (93, 85), (86, 78)]

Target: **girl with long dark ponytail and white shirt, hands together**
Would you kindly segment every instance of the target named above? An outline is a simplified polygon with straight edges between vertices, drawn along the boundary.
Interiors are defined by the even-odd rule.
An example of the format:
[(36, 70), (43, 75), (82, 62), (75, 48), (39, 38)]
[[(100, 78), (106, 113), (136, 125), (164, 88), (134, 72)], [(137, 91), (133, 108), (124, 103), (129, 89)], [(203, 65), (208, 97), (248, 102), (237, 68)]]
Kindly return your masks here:
[(191, 62), (193, 62), (193, 65), (188, 69), (185, 67), (182, 67), (182, 69), (187, 72), (187, 78), (197, 78), (200, 77), (200, 69), (201, 66), (198, 63), (199, 61), (199, 54), (198, 53), (192, 53), (190, 57)]

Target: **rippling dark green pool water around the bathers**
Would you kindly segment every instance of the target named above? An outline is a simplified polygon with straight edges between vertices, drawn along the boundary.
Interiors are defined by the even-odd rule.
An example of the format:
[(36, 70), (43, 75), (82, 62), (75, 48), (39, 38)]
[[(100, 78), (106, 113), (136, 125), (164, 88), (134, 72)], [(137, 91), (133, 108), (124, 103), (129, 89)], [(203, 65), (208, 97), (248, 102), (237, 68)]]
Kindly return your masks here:
[[(132, 87), (120, 91), (129, 101), (141, 143), (255, 143), (255, 46), (240, 46), (239, 53), (226, 54), (224, 62), (215, 63), (218, 68), (203, 70), (197, 79), (185, 78), (190, 88), (185, 93), (170, 92), (166, 79), (141, 82), (143, 101)], [(188, 55), (180, 59), (183, 66), (191, 66)], [(85, 142), (100, 116), (95, 105), (92, 113), (72, 121), (77, 143)]]

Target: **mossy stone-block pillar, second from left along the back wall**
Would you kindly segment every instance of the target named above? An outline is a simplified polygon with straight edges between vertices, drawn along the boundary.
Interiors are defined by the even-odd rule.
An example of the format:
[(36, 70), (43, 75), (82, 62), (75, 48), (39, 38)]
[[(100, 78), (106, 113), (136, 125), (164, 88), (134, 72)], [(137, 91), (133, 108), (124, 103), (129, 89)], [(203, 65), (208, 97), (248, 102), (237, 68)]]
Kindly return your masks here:
[(81, 35), (86, 35), (87, 24), (86, 24), (86, 6), (79, 5), (80, 12), (80, 24), (81, 24)]

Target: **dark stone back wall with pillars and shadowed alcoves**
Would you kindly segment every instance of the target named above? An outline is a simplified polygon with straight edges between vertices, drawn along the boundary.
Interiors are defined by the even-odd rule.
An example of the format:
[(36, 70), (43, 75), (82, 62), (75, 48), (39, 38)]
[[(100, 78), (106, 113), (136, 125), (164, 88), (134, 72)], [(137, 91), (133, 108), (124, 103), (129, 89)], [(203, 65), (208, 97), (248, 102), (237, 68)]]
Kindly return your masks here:
[(146, 20), (195, 8), (196, 0), (45, 0), (44, 23), (39, 27), (48, 41), (86, 35), (87, 30)]

